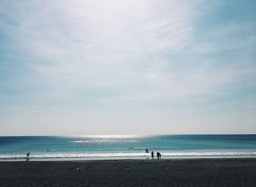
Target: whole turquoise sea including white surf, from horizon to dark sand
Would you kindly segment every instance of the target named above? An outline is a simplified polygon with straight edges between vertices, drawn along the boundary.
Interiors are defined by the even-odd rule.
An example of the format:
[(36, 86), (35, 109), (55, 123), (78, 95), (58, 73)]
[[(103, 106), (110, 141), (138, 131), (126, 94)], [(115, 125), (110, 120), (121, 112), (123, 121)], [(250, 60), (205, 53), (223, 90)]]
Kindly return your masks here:
[[(146, 153), (146, 148), (149, 152)], [(0, 161), (256, 157), (256, 135), (85, 135), (0, 137)]]

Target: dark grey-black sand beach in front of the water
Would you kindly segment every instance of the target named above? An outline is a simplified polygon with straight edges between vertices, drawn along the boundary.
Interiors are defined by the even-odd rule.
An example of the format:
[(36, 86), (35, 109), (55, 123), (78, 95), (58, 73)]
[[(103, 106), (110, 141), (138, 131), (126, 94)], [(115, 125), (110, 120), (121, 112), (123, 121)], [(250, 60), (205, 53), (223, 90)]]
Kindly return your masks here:
[(0, 162), (0, 186), (256, 186), (256, 159)]

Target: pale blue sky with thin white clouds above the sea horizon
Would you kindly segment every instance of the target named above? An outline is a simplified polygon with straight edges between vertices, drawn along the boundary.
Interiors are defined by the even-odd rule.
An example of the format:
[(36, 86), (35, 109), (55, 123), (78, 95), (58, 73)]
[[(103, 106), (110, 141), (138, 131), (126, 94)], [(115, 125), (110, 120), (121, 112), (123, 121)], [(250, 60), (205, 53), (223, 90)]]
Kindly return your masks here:
[(0, 135), (256, 133), (256, 1), (0, 1)]

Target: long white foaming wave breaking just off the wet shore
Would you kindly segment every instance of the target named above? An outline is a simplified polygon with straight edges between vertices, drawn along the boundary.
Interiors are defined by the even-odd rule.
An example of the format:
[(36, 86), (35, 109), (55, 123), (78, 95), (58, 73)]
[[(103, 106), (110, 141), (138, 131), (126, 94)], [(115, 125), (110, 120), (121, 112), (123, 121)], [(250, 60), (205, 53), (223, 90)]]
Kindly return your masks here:
[[(132, 158), (149, 157), (146, 153), (31, 154), (30, 159)], [(256, 152), (164, 152), (162, 157), (256, 156)], [(26, 159), (23, 154), (0, 155), (0, 159)]]

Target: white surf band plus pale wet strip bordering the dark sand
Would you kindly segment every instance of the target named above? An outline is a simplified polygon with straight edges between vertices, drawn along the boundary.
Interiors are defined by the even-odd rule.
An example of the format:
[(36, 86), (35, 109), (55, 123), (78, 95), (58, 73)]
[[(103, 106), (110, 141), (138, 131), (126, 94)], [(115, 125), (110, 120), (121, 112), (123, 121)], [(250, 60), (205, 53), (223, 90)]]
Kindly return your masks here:
[[(180, 158), (256, 158), (256, 151), (160, 151), (162, 158), (165, 159), (180, 159)], [(157, 155), (154, 155), (156, 158)], [(23, 160), (27, 157), (24, 154), (0, 154), (0, 162)], [(139, 151), (129, 152), (31, 152), (29, 159), (44, 161), (44, 160), (102, 160), (102, 159), (151, 159), (151, 154)]]

